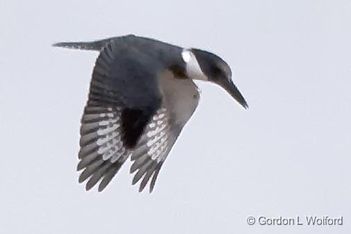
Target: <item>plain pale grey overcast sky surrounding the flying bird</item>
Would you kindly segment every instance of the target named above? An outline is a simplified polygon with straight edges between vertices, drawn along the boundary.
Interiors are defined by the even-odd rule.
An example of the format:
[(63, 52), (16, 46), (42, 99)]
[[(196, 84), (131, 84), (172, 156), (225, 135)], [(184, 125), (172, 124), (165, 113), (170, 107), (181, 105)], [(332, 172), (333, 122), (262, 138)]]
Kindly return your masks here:
[[(351, 1), (0, 2), (0, 233), (351, 233)], [(97, 53), (52, 48), (134, 33), (217, 53), (248, 101), (200, 105), (153, 194), (130, 162), (78, 185)], [(343, 226), (246, 218), (343, 216)]]

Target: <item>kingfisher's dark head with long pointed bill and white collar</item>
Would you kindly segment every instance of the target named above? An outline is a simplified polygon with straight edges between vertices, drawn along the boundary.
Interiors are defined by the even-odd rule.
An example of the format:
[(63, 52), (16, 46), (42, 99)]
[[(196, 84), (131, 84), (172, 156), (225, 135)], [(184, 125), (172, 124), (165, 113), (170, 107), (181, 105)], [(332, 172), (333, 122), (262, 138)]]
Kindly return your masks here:
[(210, 81), (225, 89), (243, 108), (248, 108), (243, 95), (232, 81), (229, 65), (214, 53), (200, 49), (184, 49), (182, 58), (186, 64), (187, 75), (196, 80)]

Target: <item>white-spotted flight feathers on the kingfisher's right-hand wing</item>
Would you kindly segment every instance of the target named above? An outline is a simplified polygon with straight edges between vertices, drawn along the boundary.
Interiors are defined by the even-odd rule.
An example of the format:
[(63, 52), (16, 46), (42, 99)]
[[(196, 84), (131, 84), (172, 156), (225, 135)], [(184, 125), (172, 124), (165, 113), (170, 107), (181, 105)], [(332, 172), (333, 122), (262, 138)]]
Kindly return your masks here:
[(133, 151), (132, 160), (134, 162), (130, 167), (130, 173), (136, 171), (137, 173), (132, 184), (134, 185), (144, 177), (140, 183), (139, 192), (144, 190), (150, 178), (152, 179), (149, 192), (153, 191), (162, 164), (176, 141), (177, 135), (173, 135), (171, 129), (169, 112), (165, 108), (160, 108), (151, 118)]

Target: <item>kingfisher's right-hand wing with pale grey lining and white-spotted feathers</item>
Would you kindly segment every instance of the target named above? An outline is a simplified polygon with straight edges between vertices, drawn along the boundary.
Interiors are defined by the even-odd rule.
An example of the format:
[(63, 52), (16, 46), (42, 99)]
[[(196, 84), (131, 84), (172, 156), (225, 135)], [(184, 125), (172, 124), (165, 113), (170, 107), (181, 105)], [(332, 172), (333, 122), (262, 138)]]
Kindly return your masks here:
[(142, 179), (139, 192), (144, 190), (150, 180), (149, 191), (153, 191), (164, 160), (198, 106), (199, 93), (194, 82), (191, 79), (180, 80), (175, 76), (170, 71), (160, 75), (159, 82), (164, 94), (162, 106), (148, 122), (142, 138), (132, 152), (131, 158), (134, 162), (130, 172), (137, 171), (132, 184)]

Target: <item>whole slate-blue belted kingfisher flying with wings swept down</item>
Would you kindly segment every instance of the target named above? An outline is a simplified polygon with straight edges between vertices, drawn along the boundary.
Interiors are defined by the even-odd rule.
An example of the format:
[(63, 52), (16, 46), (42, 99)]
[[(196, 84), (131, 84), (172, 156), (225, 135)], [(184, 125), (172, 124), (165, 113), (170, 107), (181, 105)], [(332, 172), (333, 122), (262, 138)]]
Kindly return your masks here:
[(60, 42), (54, 47), (100, 51), (80, 126), (79, 183), (99, 192), (128, 157), (139, 192), (157, 175), (199, 101), (193, 80), (223, 87), (243, 108), (228, 64), (214, 53), (183, 49), (135, 35), (92, 42)]

